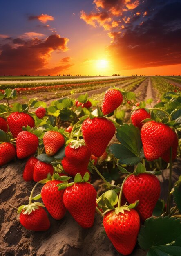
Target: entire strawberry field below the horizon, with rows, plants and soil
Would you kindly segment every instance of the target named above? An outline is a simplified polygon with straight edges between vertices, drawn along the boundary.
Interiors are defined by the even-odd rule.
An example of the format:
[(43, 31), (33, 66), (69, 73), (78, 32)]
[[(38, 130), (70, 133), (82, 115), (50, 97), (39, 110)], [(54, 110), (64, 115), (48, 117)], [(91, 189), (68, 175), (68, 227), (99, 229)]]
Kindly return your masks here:
[(178, 77), (0, 79), (2, 256), (180, 256)]

